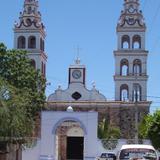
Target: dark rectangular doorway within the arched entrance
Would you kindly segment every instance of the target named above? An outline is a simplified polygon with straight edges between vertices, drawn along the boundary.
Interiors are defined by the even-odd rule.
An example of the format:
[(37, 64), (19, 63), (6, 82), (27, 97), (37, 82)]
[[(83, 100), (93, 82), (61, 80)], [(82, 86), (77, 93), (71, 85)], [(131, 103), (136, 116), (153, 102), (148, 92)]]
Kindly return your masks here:
[(84, 137), (67, 137), (67, 159), (83, 160)]

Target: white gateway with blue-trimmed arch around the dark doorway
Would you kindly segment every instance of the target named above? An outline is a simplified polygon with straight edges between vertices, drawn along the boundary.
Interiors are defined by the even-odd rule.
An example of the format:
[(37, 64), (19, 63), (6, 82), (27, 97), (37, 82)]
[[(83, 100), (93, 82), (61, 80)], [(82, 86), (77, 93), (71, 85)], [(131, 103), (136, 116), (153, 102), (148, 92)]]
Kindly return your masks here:
[(41, 139), (37, 147), (23, 152), (23, 160), (95, 159), (97, 117), (97, 112), (42, 112)]

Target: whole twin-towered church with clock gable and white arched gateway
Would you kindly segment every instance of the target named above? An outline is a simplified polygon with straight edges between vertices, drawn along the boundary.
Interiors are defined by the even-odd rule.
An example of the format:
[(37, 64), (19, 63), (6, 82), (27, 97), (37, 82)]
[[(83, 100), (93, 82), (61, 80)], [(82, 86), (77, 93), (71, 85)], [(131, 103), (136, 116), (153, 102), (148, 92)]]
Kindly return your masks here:
[[(45, 76), (46, 33), (38, 3), (24, 1), (14, 26), (14, 48), (27, 50), (32, 65)], [(105, 151), (97, 135), (103, 119), (120, 129), (121, 138), (135, 138), (138, 123), (151, 105), (147, 101), (146, 25), (139, 6), (139, 0), (124, 0), (117, 23), (115, 100), (108, 101), (94, 84), (91, 90), (87, 88), (87, 68), (77, 58), (68, 69), (68, 88), (58, 86), (47, 98), (48, 110), (41, 113), (41, 136), (34, 148), (23, 152), (23, 160), (95, 159)]]

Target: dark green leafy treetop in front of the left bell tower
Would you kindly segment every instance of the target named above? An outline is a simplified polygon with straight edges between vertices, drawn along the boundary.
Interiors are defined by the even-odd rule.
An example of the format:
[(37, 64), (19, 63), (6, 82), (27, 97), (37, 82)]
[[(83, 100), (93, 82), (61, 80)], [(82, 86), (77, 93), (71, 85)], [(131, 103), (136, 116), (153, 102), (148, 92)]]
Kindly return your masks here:
[(45, 79), (40, 71), (31, 66), (27, 53), (22, 50), (7, 50), (0, 44), (0, 76), (10, 85), (19, 89), (19, 94), (25, 91), (30, 105), (28, 112), (34, 116), (41, 110), (45, 101)]

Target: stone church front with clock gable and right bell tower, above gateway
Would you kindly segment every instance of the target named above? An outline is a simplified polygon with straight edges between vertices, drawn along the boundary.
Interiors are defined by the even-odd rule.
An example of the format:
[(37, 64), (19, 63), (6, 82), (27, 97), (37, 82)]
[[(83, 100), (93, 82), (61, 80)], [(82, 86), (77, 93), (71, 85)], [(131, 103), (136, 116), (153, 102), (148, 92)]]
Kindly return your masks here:
[(118, 44), (115, 57), (115, 101), (96, 89), (86, 87), (86, 67), (77, 59), (69, 67), (68, 88), (61, 86), (48, 97), (47, 108), (65, 111), (72, 106), (76, 112), (97, 111), (98, 120), (107, 118), (121, 130), (122, 138), (135, 138), (137, 125), (149, 113), (147, 101), (147, 57), (145, 49), (146, 25), (138, 0), (125, 0), (117, 24)]

